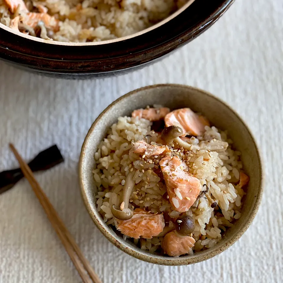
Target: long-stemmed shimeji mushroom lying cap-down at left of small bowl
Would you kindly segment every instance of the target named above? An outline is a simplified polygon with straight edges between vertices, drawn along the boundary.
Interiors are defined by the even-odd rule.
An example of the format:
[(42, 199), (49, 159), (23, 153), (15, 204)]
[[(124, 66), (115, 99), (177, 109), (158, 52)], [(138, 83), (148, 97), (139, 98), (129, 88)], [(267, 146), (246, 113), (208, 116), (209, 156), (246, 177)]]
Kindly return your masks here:
[(133, 180), (136, 170), (129, 172), (128, 176), (125, 180), (124, 190), (123, 190), (123, 201), (119, 207), (116, 205), (112, 205), (111, 212), (113, 216), (119, 220), (128, 220), (131, 219), (134, 215), (133, 210), (128, 208), (129, 206), (129, 199), (132, 193), (132, 190), (135, 185), (135, 181)]

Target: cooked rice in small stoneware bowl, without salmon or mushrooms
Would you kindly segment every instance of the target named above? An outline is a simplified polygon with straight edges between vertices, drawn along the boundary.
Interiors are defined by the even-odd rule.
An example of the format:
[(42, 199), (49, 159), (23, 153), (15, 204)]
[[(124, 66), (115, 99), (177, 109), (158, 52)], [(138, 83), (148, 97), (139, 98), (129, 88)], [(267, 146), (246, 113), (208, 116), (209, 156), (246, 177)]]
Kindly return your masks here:
[[(98, 147), (95, 154), (96, 168), (93, 170), (98, 188), (95, 198), (98, 211), (108, 225), (115, 227), (117, 224), (111, 213), (111, 207), (121, 202), (124, 180), (133, 168), (136, 169), (134, 175), (136, 185), (130, 197), (129, 207), (143, 208), (152, 213), (168, 213), (172, 218), (180, 215), (180, 212), (172, 209), (166, 198), (165, 184), (152, 170), (158, 168), (156, 164), (164, 155), (143, 159), (134, 153), (129, 153), (132, 144), (142, 140), (147, 134), (152, 136), (151, 144), (155, 144), (157, 134), (151, 131), (151, 125), (152, 123), (145, 119), (119, 117), (118, 122), (108, 130), (107, 138)], [(217, 153), (205, 149), (187, 151), (175, 144), (170, 146), (173, 156), (187, 158), (190, 173), (200, 180), (203, 191), (208, 188), (208, 192), (196, 200), (186, 212), (195, 219), (194, 251), (211, 248), (221, 240), (227, 227), (231, 227), (234, 219), (241, 216), (241, 199), (245, 195), (243, 189), (236, 185), (242, 169), (240, 152), (231, 149), (232, 141), (227, 138), (226, 131), (219, 132), (213, 126), (206, 126), (204, 135), (191, 138), (191, 142), (198, 144), (200, 141), (211, 139), (227, 141), (228, 149)], [(177, 190), (175, 193), (177, 198), (172, 198), (172, 201), (177, 208), (180, 193)], [(211, 204), (214, 202), (217, 205), (212, 208)], [(169, 226), (173, 226), (171, 221)], [(152, 239), (140, 238), (135, 239), (134, 243), (141, 249), (153, 253), (160, 247), (162, 238), (163, 236)]]

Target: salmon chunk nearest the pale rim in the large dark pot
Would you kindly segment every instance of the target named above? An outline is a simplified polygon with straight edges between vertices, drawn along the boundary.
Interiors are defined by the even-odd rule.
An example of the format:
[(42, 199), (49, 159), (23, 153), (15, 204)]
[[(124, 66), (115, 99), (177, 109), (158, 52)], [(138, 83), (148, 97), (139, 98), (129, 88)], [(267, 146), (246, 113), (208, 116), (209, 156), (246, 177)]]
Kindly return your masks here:
[(52, 29), (54, 32), (59, 30), (59, 21), (46, 13), (29, 12), (23, 22), (28, 26), (35, 28), (39, 21), (42, 21), (46, 28)]

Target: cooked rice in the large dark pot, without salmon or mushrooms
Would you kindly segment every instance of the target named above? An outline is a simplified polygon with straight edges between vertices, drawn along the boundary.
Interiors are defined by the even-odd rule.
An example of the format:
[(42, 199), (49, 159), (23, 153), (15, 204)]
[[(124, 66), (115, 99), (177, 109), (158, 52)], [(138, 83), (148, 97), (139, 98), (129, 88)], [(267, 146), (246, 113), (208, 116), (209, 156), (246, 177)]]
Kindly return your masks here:
[[(91, 42), (124, 37), (168, 17), (187, 0), (25, 0), (30, 11), (37, 6), (59, 20), (60, 30), (48, 34), (63, 42)], [(20, 12), (20, 14), (24, 14)], [(10, 26), (15, 17), (0, 0), (0, 22)], [(22, 30), (21, 30), (22, 31)]]

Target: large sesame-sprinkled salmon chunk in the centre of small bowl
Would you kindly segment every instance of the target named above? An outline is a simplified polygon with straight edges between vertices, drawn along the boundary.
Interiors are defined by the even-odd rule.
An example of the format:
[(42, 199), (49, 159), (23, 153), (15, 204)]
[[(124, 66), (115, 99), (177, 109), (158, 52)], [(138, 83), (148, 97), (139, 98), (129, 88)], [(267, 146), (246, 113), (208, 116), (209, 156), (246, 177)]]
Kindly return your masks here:
[(200, 180), (186, 172), (187, 164), (177, 156), (164, 157), (160, 160), (159, 165), (173, 208), (179, 212), (189, 210), (200, 193)]

